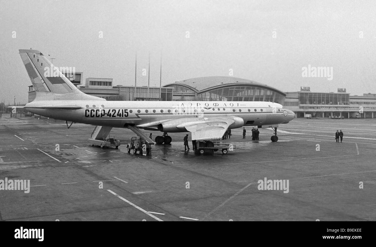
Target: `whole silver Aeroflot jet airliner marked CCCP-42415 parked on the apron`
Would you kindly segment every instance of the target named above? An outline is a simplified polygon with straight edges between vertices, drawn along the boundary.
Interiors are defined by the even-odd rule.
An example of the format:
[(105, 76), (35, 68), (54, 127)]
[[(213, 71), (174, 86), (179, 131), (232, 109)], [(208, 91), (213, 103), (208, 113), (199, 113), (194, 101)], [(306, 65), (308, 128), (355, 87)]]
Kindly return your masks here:
[[(157, 143), (170, 143), (167, 133), (191, 132), (192, 140), (220, 140), (227, 129), (243, 126), (273, 128), (294, 119), (293, 111), (274, 102), (256, 101), (106, 101), (74, 86), (39, 50), (19, 50), (36, 91), (24, 107), (32, 113), (103, 127), (159, 130)], [(53, 75), (45, 76), (45, 67)]]

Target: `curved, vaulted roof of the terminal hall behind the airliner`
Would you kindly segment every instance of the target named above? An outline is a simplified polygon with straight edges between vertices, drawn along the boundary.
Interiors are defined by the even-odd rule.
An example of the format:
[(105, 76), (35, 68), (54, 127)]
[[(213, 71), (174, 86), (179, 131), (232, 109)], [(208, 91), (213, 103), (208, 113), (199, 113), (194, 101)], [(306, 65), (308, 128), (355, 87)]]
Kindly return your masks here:
[(236, 78), (232, 76), (205, 76), (205, 77), (198, 77), (192, 79), (186, 79), (183, 81), (177, 81), (174, 83), (166, 84), (164, 87), (172, 87), (172, 86), (183, 86), (190, 88), (191, 90), (195, 91), (196, 93), (204, 93), (206, 91), (214, 90), (216, 88), (222, 88), (223, 86), (226, 87), (233, 87), (233, 86), (253, 86), (253, 87), (261, 87), (266, 88), (281, 95), (286, 96), (286, 94), (276, 88), (269, 87), (268, 85), (261, 84), (255, 81), (250, 81), (246, 79)]

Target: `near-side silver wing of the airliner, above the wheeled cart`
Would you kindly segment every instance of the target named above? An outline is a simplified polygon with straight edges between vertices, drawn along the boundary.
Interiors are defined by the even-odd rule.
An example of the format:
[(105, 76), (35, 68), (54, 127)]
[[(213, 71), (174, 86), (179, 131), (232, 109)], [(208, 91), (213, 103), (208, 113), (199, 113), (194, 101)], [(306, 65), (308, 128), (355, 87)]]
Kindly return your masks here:
[(231, 124), (231, 118), (209, 118), (203, 123), (183, 123), (186, 130), (192, 133), (192, 140), (220, 140)]

